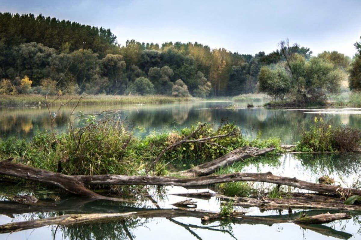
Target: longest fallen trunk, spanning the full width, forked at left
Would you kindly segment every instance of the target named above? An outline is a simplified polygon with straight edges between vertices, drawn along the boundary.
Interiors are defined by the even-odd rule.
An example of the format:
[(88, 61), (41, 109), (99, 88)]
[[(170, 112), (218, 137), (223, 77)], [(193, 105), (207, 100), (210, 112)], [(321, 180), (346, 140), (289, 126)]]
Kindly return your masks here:
[(0, 174), (25, 178), (37, 182), (55, 185), (81, 196), (96, 199), (126, 201), (125, 199), (107, 198), (92, 192), (84, 185), (173, 185), (173, 186), (206, 186), (222, 182), (251, 181), (268, 182), (272, 184), (287, 185), (300, 189), (316, 191), (318, 193), (336, 194), (342, 196), (361, 195), (361, 189), (350, 189), (340, 186), (316, 184), (298, 180), (295, 177), (275, 176), (267, 173), (231, 173), (195, 178), (159, 177), (159, 176), (124, 176), (124, 175), (77, 175), (68, 176), (42, 169), (27, 167), (9, 161), (0, 161)]

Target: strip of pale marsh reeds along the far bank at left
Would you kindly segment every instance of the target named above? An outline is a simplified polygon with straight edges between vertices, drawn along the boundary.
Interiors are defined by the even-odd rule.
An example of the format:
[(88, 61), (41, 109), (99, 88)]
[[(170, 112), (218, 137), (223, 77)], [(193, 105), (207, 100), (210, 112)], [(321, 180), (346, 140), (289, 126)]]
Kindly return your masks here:
[[(48, 103), (51, 106), (60, 106), (67, 103), (75, 105), (78, 103), (80, 95), (62, 95), (48, 96)], [(58, 99), (57, 99), (58, 98)], [(164, 95), (147, 95), (147, 96), (128, 96), (128, 95), (86, 95), (81, 100), (81, 105), (125, 105), (125, 104), (163, 104), (163, 103), (180, 103), (187, 101), (199, 101), (199, 98), (181, 97), (175, 98)], [(23, 95), (1, 95), (0, 107), (34, 107), (45, 105), (45, 96), (38, 94)]]

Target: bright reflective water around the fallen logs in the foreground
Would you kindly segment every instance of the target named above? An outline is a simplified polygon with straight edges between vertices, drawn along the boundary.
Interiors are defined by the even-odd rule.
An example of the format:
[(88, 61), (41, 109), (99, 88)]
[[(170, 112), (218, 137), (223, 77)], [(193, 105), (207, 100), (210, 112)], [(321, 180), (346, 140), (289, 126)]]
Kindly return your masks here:
[[(355, 183), (361, 170), (360, 154), (334, 155), (290, 155), (279, 159), (261, 159), (256, 164), (245, 164), (244, 172), (267, 172), (276, 175), (297, 176), (301, 180), (316, 181), (317, 176), (328, 174), (344, 185)], [(302, 175), (297, 173), (302, 172)], [(184, 189), (183, 187), (148, 187), (148, 193), (158, 205), (164, 209), (174, 208), (172, 203), (186, 198), (172, 194), (205, 191), (207, 189)], [(69, 213), (118, 213), (155, 209), (151, 201), (145, 199), (134, 204), (120, 204), (109, 201), (89, 201), (87, 199), (64, 198), (44, 212), (32, 210), (27, 205), (19, 204), (16, 212), (9, 211), (5, 204), (5, 194), (31, 193), (38, 196), (43, 193), (37, 189), (20, 189), (17, 187), (0, 188), (0, 224), (30, 219), (59, 216)], [(2, 197), (2, 198), (1, 198)], [(197, 209), (219, 211), (220, 200), (193, 199), (197, 201)], [(48, 201), (48, 204), (51, 203)], [(260, 212), (258, 208), (249, 208), (249, 216), (268, 216), (288, 219), (287, 211)], [(300, 210), (294, 209), (293, 215), (298, 216)], [(309, 215), (335, 210), (311, 210)], [(312, 229), (304, 229), (293, 223), (262, 224), (253, 222), (213, 222), (206, 225), (200, 218), (182, 216), (174, 218), (129, 218), (113, 220), (106, 223), (81, 224), (69, 227), (47, 226), (32, 230), (0, 234), (0, 239), (361, 239), (361, 212), (353, 212), (353, 218), (340, 220), (324, 225), (313, 225)]]

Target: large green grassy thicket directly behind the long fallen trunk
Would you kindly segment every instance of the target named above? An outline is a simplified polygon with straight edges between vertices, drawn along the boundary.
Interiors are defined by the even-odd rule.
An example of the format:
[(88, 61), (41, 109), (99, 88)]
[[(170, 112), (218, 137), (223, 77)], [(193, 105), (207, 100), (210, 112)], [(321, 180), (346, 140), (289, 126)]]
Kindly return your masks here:
[(279, 139), (249, 141), (234, 124), (222, 124), (217, 129), (206, 124), (196, 133), (198, 126), (192, 126), (139, 139), (114, 118), (95, 121), (94, 116), (87, 116), (82, 122), (83, 127), (70, 128), (66, 133), (39, 132), (30, 142), (14, 138), (0, 140), (0, 157), (13, 156), (29, 166), (69, 175), (142, 175), (162, 150), (191, 133), (189, 140), (231, 133), (208, 142), (184, 143), (167, 151), (153, 169), (155, 174), (164, 175), (169, 170), (216, 159), (242, 146), (279, 148), (280, 144)]

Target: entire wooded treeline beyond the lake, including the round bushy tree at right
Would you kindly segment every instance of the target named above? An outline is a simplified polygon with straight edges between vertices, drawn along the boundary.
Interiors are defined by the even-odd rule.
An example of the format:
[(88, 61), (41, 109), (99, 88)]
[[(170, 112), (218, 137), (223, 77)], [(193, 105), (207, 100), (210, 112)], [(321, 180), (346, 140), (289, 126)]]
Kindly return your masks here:
[(270, 54), (232, 53), (197, 42), (117, 43), (110, 29), (33, 14), (0, 13), (0, 94), (170, 95), (264, 92), (273, 100), (324, 101), (349, 78), (361, 88), (361, 41), (337, 51), (279, 43)]

